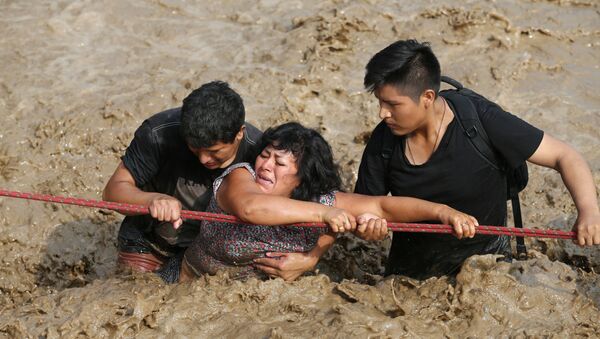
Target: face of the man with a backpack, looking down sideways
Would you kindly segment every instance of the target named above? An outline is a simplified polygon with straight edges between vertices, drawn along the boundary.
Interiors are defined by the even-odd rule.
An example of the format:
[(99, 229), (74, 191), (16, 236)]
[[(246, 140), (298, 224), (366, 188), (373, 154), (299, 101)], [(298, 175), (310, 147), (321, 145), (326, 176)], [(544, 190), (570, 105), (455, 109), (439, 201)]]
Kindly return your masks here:
[(401, 93), (393, 85), (383, 85), (375, 90), (379, 99), (379, 117), (395, 135), (406, 135), (421, 127), (426, 119), (423, 98), (419, 102)]

